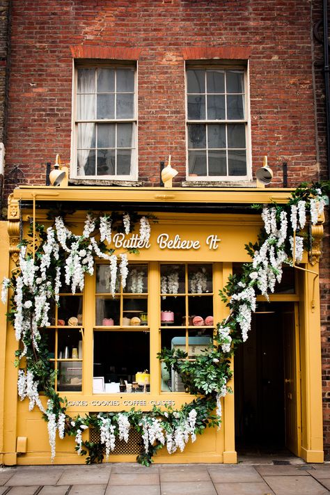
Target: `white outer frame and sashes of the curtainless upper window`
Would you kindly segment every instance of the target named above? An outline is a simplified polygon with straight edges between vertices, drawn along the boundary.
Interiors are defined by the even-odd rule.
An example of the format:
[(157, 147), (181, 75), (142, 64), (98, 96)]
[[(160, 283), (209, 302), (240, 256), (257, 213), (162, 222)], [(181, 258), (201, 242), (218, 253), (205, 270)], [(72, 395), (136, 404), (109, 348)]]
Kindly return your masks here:
[[(187, 70), (242, 70), (244, 71), (244, 116), (242, 120), (188, 120), (188, 85)], [(187, 182), (250, 182), (252, 180), (252, 159), (251, 159), (251, 115), (250, 115), (250, 88), (249, 88), (249, 63), (201, 63), (196, 61), (186, 62), (184, 68), (185, 80), (185, 112), (186, 112), (186, 180)], [(206, 90), (205, 90), (206, 91)], [(206, 94), (206, 93), (205, 93)], [(245, 146), (246, 146), (246, 175), (189, 175), (189, 124), (235, 124), (245, 125)], [(195, 148), (194, 148), (195, 149)], [(207, 149), (207, 148), (206, 148)]]

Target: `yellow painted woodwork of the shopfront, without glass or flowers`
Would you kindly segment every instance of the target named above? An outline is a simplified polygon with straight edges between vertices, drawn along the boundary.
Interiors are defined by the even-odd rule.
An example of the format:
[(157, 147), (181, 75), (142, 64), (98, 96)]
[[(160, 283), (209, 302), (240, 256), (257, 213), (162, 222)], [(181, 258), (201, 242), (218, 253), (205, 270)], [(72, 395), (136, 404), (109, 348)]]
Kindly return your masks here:
[[(148, 324), (145, 331), (150, 338), (150, 391), (146, 393), (93, 393), (93, 345), (95, 332), (132, 331), (123, 325), (123, 302), (120, 302), (120, 320), (113, 328), (104, 329), (97, 324), (95, 315), (95, 299), (97, 288), (95, 276), (86, 276), (83, 296), (83, 321), (76, 325), (84, 331), (82, 344), (82, 384), (81, 391), (65, 391), (60, 395), (68, 399), (68, 414), (86, 414), (97, 411), (130, 409), (151, 409), (152, 403), (159, 401), (174, 401), (173, 407), (180, 407), (189, 402), (191, 396), (184, 392), (162, 391), (162, 377), (157, 352), (161, 349), (162, 328), (160, 310), (161, 267), (166, 264), (178, 264), (184, 267), (210, 265), (212, 267), (212, 293), (207, 297), (212, 299), (214, 323), (221, 321), (228, 314), (228, 308), (221, 302), (219, 289), (226, 284), (229, 274), (233, 273), (233, 264), (251, 260), (244, 250), (244, 244), (256, 241), (262, 221), (260, 215), (251, 214), (249, 210), (235, 213), (235, 210), (221, 212), (221, 207), (235, 205), (247, 207), (253, 203), (285, 203), (288, 201), (288, 189), (125, 189), (125, 188), (80, 188), (68, 187), (19, 187), (10, 197), (8, 207), (8, 226), (5, 222), (0, 225), (1, 235), (1, 276), (8, 276), (15, 268), (17, 261), (17, 242), (19, 242), (19, 226), (26, 233), (30, 219), (47, 224), (46, 214), (49, 205), (61, 202), (70, 207), (79, 207), (77, 212), (68, 217), (74, 226), (74, 231), (81, 233), (87, 210), (95, 214), (110, 210), (123, 210), (122, 205), (129, 205), (139, 213), (152, 212), (157, 217), (157, 223), (152, 224), (150, 247), (140, 249), (138, 255), (129, 255), (129, 262), (148, 266), (148, 288), (146, 299)], [(20, 203), (19, 203), (20, 201)], [(81, 204), (84, 204), (84, 210)], [(203, 208), (212, 203), (219, 212), (207, 213)], [(163, 205), (161, 212), (157, 211)], [(143, 205), (148, 208), (143, 210)], [(152, 210), (152, 205), (155, 211)], [(200, 207), (201, 212), (189, 213), (182, 209), (184, 205)], [(178, 211), (176, 211), (176, 209)], [(168, 210), (168, 211), (166, 211)], [(217, 210), (217, 211), (218, 211)], [(9, 235), (8, 235), (9, 233)], [(319, 237), (322, 233), (319, 235)], [(167, 237), (166, 237), (167, 236)], [(171, 244), (175, 241), (177, 244)], [(210, 237), (213, 236), (213, 237)], [(214, 237), (215, 236), (215, 237)], [(212, 240), (213, 239), (213, 240)], [(187, 244), (178, 242), (191, 241), (194, 247), (187, 249)], [(214, 244), (212, 244), (212, 242)], [(189, 247), (189, 244), (188, 244)], [(118, 249), (116, 253), (123, 252)], [(9, 253), (9, 254), (8, 254)], [(315, 254), (317, 258), (317, 253)], [(312, 266), (305, 253), (300, 265), (312, 272), (317, 272), (317, 262)], [(291, 411), (292, 425), (291, 450), (308, 462), (322, 462), (322, 396), (321, 396), (321, 350), (320, 350), (320, 301), (318, 279), (313, 283), (314, 274), (297, 270), (296, 290), (292, 294), (274, 294), (271, 301), (291, 302), (294, 304), (294, 331), (292, 340), (292, 376), (294, 384), (288, 394), (296, 404)], [(190, 294), (182, 292), (182, 301), (189, 305)], [(68, 296), (69, 297), (69, 296)], [(205, 296), (206, 297), (206, 296)], [(185, 298), (185, 299), (184, 299)], [(262, 298), (261, 298), (262, 299)], [(125, 294), (118, 301), (125, 301)], [(182, 303), (183, 304), (183, 303)], [(188, 308), (189, 311), (189, 308)], [(14, 354), (17, 348), (13, 328), (6, 324), (6, 311), (1, 311), (1, 343), (0, 348), (0, 464), (49, 464), (50, 450), (48, 443), (47, 425), (36, 408), (29, 411), (26, 400), (17, 400), (17, 369), (14, 366)], [(188, 313), (187, 313), (188, 314)], [(161, 330), (162, 328), (162, 330)], [(178, 331), (180, 328), (178, 327)], [(187, 329), (187, 332), (191, 329)], [(54, 324), (54, 342), (58, 345), (58, 325)], [(180, 330), (181, 331), (181, 330)], [(188, 333), (187, 333), (188, 335)], [(187, 340), (186, 340), (187, 346)], [(59, 349), (59, 347), (58, 347)], [(54, 362), (58, 362), (56, 347)], [(63, 361), (63, 358), (62, 358)], [(61, 361), (61, 363), (62, 363)], [(68, 358), (70, 363), (70, 358)], [(55, 365), (57, 366), (58, 363)], [(138, 371), (138, 370), (136, 370)], [(288, 380), (288, 382), (290, 381)], [(233, 394), (226, 395), (223, 401), (223, 423), (220, 430), (208, 429), (198, 436), (195, 443), (189, 443), (183, 453), (168, 455), (163, 449), (155, 457), (155, 462), (237, 462), (235, 448), (235, 368), (234, 379), (230, 384)], [(292, 395), (293, 394), (293, 395)], [(131, 403), (132, 401), (138, 404)], [(118, 405), (107, 405), (115, 401)], [(288, 419), (288, 418), (287, 418)], [(88, 432), (86, 433), (88, 435)], [(18, 441), (17, 441), (18, 439)], [(132, 462), (136, 455), (116, 455), (109, 458), (115, 462)], [(84, 464), (84, 457), (74, 452), (74, 440), (65, 438), (56, 442), (55, 464)]]

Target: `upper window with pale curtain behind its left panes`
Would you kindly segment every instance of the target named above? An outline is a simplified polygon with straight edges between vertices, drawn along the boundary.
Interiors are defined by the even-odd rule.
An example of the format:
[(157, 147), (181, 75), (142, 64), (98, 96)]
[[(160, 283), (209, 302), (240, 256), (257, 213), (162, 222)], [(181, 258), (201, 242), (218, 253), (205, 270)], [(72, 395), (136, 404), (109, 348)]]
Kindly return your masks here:
[(74, 143), (77, 178), (136, 180), (134, 67), (77, 68)]

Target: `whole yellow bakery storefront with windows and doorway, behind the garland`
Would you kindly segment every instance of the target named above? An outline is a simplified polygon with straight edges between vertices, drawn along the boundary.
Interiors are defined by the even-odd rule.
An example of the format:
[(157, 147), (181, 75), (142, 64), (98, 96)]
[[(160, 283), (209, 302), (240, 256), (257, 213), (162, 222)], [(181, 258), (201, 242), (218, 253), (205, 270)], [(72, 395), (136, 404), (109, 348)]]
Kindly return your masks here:
[[(212, 348), (217, 322), (230, 311), (219, 290), (230, 275), (242, 272), (244, 262), (251, 261), (244, 246), (256, 242), (262, 227), (260, 213), (251, 205), (285, 203), (289, 193), (288, 189), (15, 189), (8, 225), (1, 223), (5, 277), (15, 272), (17, 244), (28, 237), (28, 229), (37, 245), (36, 226), (52, 225), (50, 211), (65, 211), (66, 224), (80, 236), (88, 211), (95, 215), (116, 211), (118, 218), (128, 213), (131, 222), (136, 214), (149, 218), (150, 237), (141, 237), (139, 227), (128, 235), (113, 230), (109, 246), (118, 260), (129, 251), (125, 288), (120, 278), (111, 278), (114, 268), (109, 260), (95, 256), (93, 275), (85, 276), (84, 288), (77, 282), (72, 294), (63, 282), (58, 305), (49, 307), (49, 324), (40, 333), (47, 341), (49, 369), (56, 370), (55, 389), (67, 400), (66, 414), (84, 418), (132, 408), (180, 409), (194, 400), (178, 372), (168, 370), (157, 353), (162, 348), (180, 349), (193, 362)], [(322, 225), (313, 228), (313, 263), (304, 253), (297, 269), (283, 270), (282, 282), (269, 302), (258, 296), (249, 340), (230, 364), (233, 393), (221, 398), (221, 428), (206, 428), (182, 452), (178, 449), (170, 455), (165, 447), (159, 449), (155, 462), (235, 463), (237, 452), (256, 446), (288, 448), (308, 462), (322, 462), (317, 278)], [(29, 400), (17, 398), (17, 340), (3, 313), (2, 463), (49, 464), (47, 423), (37, 406), (29, 411)], [(19, 367), (22, 363), (24, 358)], [(40, 399), (46, 409), (42, 391)], [(82, 437), (97, 442), (100, 433), (89, 427)], [(139, 443), (141, 436), (130, 432), (127, 442), (118, 441), (111, 450), (109, 462), (134, 462)], [(84, 464), (85, 457), (77, 455), (75, 445), (72, 436), (57, 437), (54, 463)]]

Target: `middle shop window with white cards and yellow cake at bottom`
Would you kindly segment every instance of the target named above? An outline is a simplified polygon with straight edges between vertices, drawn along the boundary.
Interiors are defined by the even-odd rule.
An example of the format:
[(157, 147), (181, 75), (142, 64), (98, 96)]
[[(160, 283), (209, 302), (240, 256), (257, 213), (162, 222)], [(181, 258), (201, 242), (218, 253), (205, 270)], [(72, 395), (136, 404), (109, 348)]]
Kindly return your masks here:
[(96, 267), (94, 393), (150, 391), (148, 265), (130, 265), (125, 289), (111, 294), (111, 272)]

